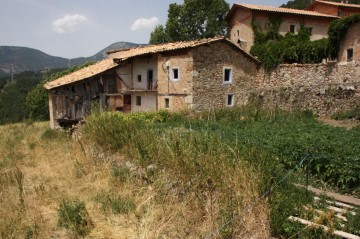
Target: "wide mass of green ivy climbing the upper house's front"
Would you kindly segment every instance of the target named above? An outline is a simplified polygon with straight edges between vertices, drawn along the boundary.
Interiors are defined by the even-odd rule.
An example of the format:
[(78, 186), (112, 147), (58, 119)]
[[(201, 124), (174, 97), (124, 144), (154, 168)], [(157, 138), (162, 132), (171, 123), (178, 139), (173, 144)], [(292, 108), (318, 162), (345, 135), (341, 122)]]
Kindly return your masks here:
[(282, 63), (321, 63), (327, 57), (327, 39), (310, 41), (310, 30), (302, 27), (298, 34), (278, 33), (282, 20), (269, 18), (266, 29), (253, 19), (255, 44), (250, 53), (259, 58), (264, 69), (271, 71)]

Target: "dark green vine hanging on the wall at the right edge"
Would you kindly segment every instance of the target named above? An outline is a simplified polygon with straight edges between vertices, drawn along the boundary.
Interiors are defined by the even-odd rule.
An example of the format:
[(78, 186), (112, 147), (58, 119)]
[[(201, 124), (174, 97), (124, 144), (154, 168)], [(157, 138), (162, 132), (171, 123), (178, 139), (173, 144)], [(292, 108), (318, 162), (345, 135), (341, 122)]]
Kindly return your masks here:
[(343, 40), (349, 27), (360, 22), (360, 14), (341, 18), (330, 24), (328, 35), (328, 54), (331, 58), (336, 58), (340, 51), (340, 43)]

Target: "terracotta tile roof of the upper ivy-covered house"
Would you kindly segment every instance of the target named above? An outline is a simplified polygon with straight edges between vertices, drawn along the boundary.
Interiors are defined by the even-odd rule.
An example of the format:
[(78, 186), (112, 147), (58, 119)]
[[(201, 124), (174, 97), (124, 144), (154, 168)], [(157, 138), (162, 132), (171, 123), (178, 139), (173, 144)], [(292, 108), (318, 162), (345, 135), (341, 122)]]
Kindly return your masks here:
[(308, 11), (308, 10), (298, 10), (298, 9), (292, 9), (292, 8), (282, 8), (282, 7), (270, 7), (270, 6), (260, 6), (260, 5), (253, 5), (253, 4), (238, 4), (235, 3), (228, 16), (227, 19), (231, 17), (231, 15), (234, 13), (234, 11), (237, 8), (247, 8), (254, 11), (262, 11), (262, 12), (273, 12), (273, 13), (284, 13), (284, 14), (295, 14), (295, 15), (303, 15), (303, 16), (313, 16), (313, 17), (325, 17), (325, 18), (338, 18), (337, 16), (323, 14), (315, 11)]

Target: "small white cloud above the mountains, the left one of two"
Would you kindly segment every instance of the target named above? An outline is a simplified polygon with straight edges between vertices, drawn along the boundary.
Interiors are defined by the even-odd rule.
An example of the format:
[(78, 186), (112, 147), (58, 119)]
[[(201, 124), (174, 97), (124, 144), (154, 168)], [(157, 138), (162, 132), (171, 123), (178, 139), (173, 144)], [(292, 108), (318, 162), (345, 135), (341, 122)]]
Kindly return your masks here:
[(75, 31), (75, 26), (86, 21), (87, 18), (83, 15), (66, 15), (63, 18), (53, 21), (53, 31), (59, 34)]

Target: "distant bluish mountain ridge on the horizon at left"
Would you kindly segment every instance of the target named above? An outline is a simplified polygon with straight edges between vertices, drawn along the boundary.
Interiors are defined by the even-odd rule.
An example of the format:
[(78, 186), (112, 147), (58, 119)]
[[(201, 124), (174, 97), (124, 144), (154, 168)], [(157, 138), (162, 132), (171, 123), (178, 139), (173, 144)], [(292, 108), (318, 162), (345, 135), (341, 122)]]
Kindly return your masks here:
[[(136, 47), (140, 44), (116, 42), (93, 56), (70, 59), (70, 66), (82, 65), (88, 61), (99, 61), (106, 57), (109, 50)], [(69, 59), (48, 55), (42, 51), (19, 46), (0, 46), (0, 76), (11, 72), (40, 71), (69, 67)]]

